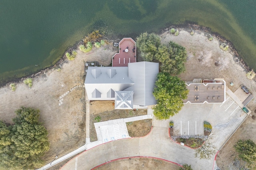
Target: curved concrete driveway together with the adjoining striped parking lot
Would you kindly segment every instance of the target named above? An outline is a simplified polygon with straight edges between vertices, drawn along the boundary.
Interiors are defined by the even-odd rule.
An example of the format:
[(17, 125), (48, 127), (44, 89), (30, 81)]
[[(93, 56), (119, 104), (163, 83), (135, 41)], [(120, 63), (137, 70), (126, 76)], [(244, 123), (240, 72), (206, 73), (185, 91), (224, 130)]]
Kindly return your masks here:
[[(186, 135), (192, 133), (195, 126), (195, 123), (192, 125), (192, 122), (196, 122), (198, 126), (201, 125), (203, 129), (203, 121), (209, 121), (212, 124), (211, 134), (213, 136), (210, 142), (214, 143), (219, 150), (248, 116), (238, 107), (238, 104), (234, 103), (231, 98), (228, 98), (224, 104), (201, 104), (200, 107), (196, 104), (186, 104), (179, 114), (174, 115), (169, 120), (158, 121), (153, 118), (153, 128), (148, 136), (120, 139), (98, 145), (70, 160), (61, 170), (88, 170), (110, 160), (132, 156), (151, 156), (181, 165), (191, 164), (195, 170), (212, 170), (214, 155), (210, 160), (200, 160), (195, 158), (194, 149), (174, 143), (168, 135), (169, 121), (172, 120), (176, 124), (180, 123), (179, 126), (175, 127), (174, 125), (175, 131), (179, 130), (178, 127), (181, 124), (182, 127), (188, 127), (189, 123), (189, 129), (179, 130), (180, 133)], [(194, 127), (194, 129), (196, 128)]]

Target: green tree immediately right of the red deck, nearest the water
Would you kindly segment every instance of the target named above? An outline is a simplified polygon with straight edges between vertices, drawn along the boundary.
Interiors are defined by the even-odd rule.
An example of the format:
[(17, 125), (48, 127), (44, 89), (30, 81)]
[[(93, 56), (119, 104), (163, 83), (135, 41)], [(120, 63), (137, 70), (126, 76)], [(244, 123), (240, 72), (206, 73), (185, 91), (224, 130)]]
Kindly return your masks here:
[(145, 61), (153, 61), (161, 44), (161, 38), (155, 33), (142, 33), (137, 37), (136, 45)]

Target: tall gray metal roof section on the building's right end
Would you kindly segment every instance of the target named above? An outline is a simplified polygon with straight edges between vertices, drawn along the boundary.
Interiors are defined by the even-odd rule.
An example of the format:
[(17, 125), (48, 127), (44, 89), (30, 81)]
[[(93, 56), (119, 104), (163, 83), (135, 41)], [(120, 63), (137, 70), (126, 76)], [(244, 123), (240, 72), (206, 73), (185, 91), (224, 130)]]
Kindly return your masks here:
[(133, 104), (149, 106), (156, 104), (153, 91), (156, 76), (159, 72), (159, 63), (137, 62), (128, 64), (129, 78), (134, 82)]

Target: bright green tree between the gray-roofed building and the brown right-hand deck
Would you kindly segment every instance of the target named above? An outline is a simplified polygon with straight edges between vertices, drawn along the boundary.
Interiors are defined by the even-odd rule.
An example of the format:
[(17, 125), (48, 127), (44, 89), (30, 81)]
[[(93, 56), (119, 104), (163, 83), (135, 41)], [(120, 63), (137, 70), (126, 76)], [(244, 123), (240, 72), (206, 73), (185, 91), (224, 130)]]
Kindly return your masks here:
[(188, 89), (185, 82), (169, 73), (160, 72), (157, 76), (153, 95), (157, 100), (154, 107), (156, 119), (169, 119), (177, 114), (183, 107), (183, 101), (187, 98)]

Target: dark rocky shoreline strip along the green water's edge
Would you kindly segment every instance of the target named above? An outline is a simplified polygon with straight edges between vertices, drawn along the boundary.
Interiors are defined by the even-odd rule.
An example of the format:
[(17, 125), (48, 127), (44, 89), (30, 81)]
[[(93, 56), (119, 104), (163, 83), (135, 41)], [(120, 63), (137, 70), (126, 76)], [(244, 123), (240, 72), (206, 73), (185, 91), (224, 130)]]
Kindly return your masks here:
[[(226, 43), (229, 46), (229, 50), (230, 53), (233, 55), (234, 59), (239, 60), (237, 63), (242, 66), (244, 68), (244, 70), (246, 70), (247, 72), (250, 71), (251, 69), (249, 68), (249, 66), (244, 62), (244, 60), (242, 59), (242, 57), (240, 57), (240, 55), (238, 54), (237, 50), (234, 48), (234, 45), (232, 44), (231, 41), (229, 41), (228, 39), (226, 39), (225, 37), (223, 37), (222, 35), (216, 33), (216, 32), (212, 32), (211, 29), (209, 27), (203, 27), (201, 25), (198, 25), (196, 23), (185, 23), (185, 24), (181, 24), (181, 25), (170, 25), (170, 27), (166, 27), (164, 29), (161, 29), (157, 34), (161, 35), (162, 33), (169, 31), (171, 28), (175, 28), (175, 29), (183, 29), (185, 31), (198, 31), (204, 34), (208, 34), (208, 35), (212, 35), (214, 36), (218, 41), (222, 42), (222, 43)], [(104, 37), (106, 39), (108, 39), (108, 41), (110, 42), (114, 42), (117, 41), (117, 39), (110, 39), (108, 37)], [(64, 63), (68, 62), (68, 59), (66, 58), (66, 52), (71, 53), (74, 50), (78, 50), (79, 45), (83, 44), (83, 41), (81, 39), (81, 41), (79, 41), (78, 43), (75, 43), (72, 47), (69, 47), (62, 55), (62, 57), (60, 59), (58, 59), (58, 61), (49, 67), (46, 67), (42, 70), (40, 70), (37, 73), (33, 73), (33, 74), (29, 74), (28, 76), (24, 76), (21, 78), (14, 78), (14, 79), (10, 79), (10, 80), (6, 80), (3, 81), (2, 83), (0, 83), (0, 88), (4, 87), (4, 86), (9, 86), (11, 83), (22, 83), (23, 80), (25, 80), (26, 78), (37, 78), (39, 76), (43, 76), (44, 74), (46, 74), (49, 70), (52, 70), (56, 67), (62, 67), (62, 65)], [(254, 80), (255, 81), (255, 80)]]

